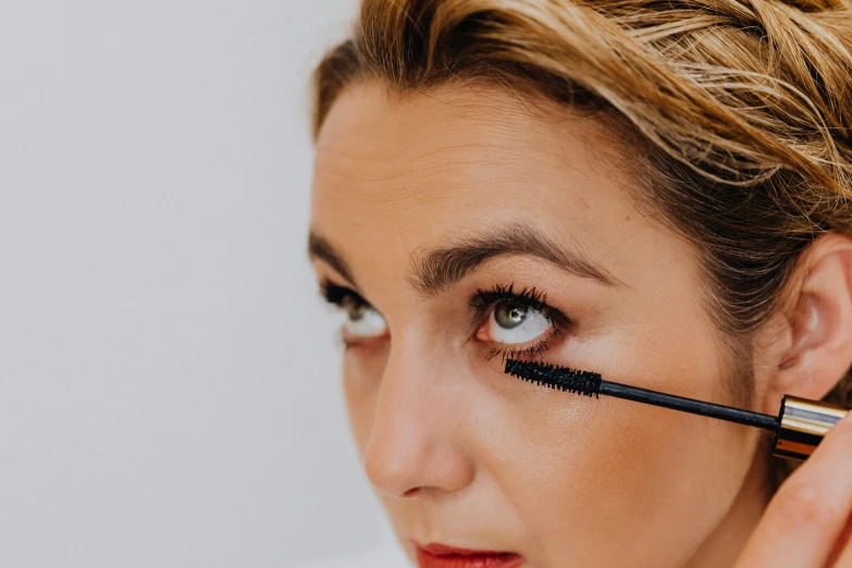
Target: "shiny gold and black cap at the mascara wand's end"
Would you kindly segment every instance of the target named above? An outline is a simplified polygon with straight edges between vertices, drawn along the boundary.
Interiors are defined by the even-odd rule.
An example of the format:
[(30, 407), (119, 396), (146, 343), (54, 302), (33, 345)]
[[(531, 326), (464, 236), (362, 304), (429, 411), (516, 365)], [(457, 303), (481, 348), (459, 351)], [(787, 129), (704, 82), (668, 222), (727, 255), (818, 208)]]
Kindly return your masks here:
[(842, 406), (786, 395), (775, 435), (775, 455), (807, 459), (823, 437), (849, 409)]

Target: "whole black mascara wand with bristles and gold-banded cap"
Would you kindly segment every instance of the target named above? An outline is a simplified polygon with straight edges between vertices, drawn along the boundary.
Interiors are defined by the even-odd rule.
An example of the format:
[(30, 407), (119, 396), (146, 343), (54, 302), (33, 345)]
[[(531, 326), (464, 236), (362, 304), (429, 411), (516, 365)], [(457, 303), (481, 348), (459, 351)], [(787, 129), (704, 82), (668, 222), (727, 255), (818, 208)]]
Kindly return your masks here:
[(840, 406), (787, 395), (781, 402), (781, 411), (775, 417), (638, 386), (613, 383), (604, 381), (601, 374), (589, 371), (577, 371), (567, 367), (515, 359), (506, 359), (505, 372), (531, 383), (569, 393), (594, 397), (600, 395), (615, 396), (646, 405), (737, 422), (738, 424), (763, 428), (775, 433), (775, 455), (794, 459), (806, 459), (831, 427), (849, 412), (848, 408)]

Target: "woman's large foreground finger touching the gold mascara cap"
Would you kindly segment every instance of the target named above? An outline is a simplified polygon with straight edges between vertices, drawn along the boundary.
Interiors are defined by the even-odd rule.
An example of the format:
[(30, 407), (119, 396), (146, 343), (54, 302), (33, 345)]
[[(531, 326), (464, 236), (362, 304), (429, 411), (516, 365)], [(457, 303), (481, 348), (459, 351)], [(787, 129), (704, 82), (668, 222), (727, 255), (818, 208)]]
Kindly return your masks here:
[(781, 485), (737, 566), (822, 568), (852, 509), (852, 412)]

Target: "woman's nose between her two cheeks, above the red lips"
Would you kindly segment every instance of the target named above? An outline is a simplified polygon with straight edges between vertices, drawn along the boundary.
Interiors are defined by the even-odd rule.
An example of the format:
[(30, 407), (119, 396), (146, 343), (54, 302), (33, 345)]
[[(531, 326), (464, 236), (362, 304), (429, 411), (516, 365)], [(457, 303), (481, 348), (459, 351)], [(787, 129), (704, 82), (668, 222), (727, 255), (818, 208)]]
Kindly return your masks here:
[(474, 466), (462, 447), (466, 407), (453, 372), (417, 350), (391, 351), (362, 455), (368, 479), (390, 498), (465, 489)]

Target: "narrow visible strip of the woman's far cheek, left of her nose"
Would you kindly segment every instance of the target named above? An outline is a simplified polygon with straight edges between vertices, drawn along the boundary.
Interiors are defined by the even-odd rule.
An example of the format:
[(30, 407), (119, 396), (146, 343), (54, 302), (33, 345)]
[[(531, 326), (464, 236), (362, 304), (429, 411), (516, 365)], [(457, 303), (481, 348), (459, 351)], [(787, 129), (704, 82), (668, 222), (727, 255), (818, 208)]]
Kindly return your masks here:
[(349, 425), (361, 456), (372, 431), (375, 402), (387, 362), (388, 347), (384, 343), (351, 347), (343, 359), (343, 390)]

